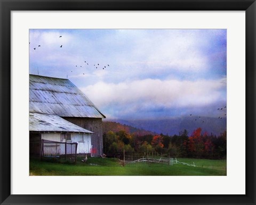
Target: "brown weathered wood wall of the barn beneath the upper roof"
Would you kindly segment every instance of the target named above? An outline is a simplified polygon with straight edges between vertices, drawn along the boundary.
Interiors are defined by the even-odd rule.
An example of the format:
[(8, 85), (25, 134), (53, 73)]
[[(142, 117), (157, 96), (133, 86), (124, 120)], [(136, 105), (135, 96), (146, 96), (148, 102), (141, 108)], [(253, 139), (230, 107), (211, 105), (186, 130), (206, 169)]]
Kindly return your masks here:
[(88, 117), (62, 117), (67, 121), (83, 127), (86, 130), (92, 131), (91, 135), (92, 148), (96, 153), (92, 156), (99, 156), (103, 154), (103, 140), (102, 140), (102, 119), (101, 118), (88, 118)]

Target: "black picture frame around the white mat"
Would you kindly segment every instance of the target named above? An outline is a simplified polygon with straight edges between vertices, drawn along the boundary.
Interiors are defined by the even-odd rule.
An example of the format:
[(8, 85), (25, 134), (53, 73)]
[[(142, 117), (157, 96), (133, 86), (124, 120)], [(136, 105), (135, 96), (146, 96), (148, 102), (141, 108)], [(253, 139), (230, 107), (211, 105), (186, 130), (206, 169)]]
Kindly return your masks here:
[[(254, 0), (0, 0), (0, 202), (1, 204), (256, 204)], [(11, 194), (11, 11), (158, 10), (246, 12), (246, 194), (245, 195), (13, 195)], [(139, 194), (139, 193), (138, 193)]]

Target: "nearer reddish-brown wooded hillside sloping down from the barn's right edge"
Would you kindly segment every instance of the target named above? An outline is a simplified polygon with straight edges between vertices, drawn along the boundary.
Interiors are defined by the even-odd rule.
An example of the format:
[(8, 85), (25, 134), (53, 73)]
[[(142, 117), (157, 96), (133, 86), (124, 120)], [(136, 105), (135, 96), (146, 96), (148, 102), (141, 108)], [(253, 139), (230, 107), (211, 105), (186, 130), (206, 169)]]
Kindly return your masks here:
[(147, 134), (152, 134), (156, 135), (157, 133), (155, 132), (150, 132), (147, 130), (143, 129), (138, 129), (136, 127), (126, 125), (126, 124), (121, 124), (118, 122), (109, 122), (109, 121), (103, 121), (102, 122), (102, 131), (103, 133), (107, 133), (108, 131), (113, 131), (113, 132), (119, 132), (121, 130), (125, 130), (127, 133), (130, 134), (136, 134), (136, 135), (147, 135)]

